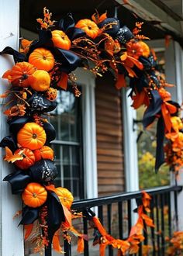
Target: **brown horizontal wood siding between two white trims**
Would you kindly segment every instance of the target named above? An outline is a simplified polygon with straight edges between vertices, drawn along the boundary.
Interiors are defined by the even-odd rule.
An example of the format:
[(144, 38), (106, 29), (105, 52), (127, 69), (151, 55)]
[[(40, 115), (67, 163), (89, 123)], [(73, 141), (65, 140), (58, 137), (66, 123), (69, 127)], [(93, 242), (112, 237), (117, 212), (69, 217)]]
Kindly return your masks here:
[(98, 195), (124, 191), (123, 124), (120, 92), (112, 77), (98, 78), (95, 88)]

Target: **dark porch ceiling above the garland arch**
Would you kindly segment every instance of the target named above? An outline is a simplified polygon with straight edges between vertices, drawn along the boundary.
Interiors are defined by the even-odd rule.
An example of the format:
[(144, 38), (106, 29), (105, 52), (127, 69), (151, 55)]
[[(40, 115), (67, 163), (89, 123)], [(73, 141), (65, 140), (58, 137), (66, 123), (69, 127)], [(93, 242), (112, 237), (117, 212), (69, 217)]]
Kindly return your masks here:
[[(123, 1), (120, 0), (120, 3)], [(36, 32), (37, 22), (36, 19), (43, 16), (43, 7), (47, 6), (50, 12), (53, 13), (53, 18), (59, 20), (65, 16), (67, 12), (72, 12), (74, 19), (90, 18), (95, 12), (95, 9), (99, 13), (108, 11), (109, 16), (114, 16), (115, 6), (118, 6), (118, 17), (122, 25), (127, 24), (129, 29), (133, 29), (136, 19), (128, 9), (119, 2), (114, 0), (20, 0), (20, 26), (29, 31)], [(164, 38), (164, 32), (159, 28), (154, 28), (154, 24), (147, 22), (143, 26), (143, 34), (150, 37), (151, 39)], [(24, 35), (22, 35), (24, 36)]]

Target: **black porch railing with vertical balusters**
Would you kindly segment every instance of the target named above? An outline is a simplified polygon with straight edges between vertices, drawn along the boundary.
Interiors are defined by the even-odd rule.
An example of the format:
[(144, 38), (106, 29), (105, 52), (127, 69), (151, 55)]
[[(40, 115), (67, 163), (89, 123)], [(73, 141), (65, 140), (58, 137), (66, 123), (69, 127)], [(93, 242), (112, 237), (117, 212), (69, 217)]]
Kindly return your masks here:
[[(152, 206), (150, 217), (154, 220), (155, 228), (149, 233), (144, 232), (144, 245), (150, 244), (152, 247), (150, 255), (163, 256), (166, 251), (165, 237), (171, 237), (174, 230), (178, 230), (178, 192), (181, 186), (164, 186), (155, 189), (146, 189), (146, 192), (152, 196)], [(129, 230), (132, 227), (134, 216), (133, 209), (136, 208), (134, 199), (140, 199), (141, 192), (125, 192), (119, 195), (110, 195), (96, 199), (86, 199), (74, 202), (72, 209), (82, 211), (86, 208), (93, 208), (98, 214), (99, 220), (105, 229), (113, 237), (126, 239)], [(78, 223), (84, 234), (88, 235), (88, 241), (85, 240), (84, 256), (99, 255), (98, 249), (91, 246), (92, 228), (88, 225), (88, 220), (83, 218), (82, 223)], [(66, 256), (78, 255), (76, 246), (64, 242), (64, 251)], [(106, 255), (114, 256), (116, 251), (108, 247)], [(142, 245), (137, 255), (142, 255)]]

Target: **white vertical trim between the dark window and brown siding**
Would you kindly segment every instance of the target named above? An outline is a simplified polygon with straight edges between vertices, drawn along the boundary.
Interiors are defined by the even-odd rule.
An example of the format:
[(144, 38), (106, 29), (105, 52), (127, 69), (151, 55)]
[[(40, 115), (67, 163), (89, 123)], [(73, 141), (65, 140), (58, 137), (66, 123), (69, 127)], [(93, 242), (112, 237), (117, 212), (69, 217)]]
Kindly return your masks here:
[(82, 68), (74, 71), (77, 84), (82, 86), (84, 182), (87, 199), (98, 197), (95, 75)]

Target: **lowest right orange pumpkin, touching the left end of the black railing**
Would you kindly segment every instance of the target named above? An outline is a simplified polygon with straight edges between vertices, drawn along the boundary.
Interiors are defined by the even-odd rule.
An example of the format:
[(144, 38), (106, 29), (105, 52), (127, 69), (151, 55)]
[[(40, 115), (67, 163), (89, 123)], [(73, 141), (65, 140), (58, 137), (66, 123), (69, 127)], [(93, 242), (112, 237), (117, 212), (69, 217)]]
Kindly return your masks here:
[(67, 207), (67, 209), (71, 208), (72, 202), (74, 201), (74, 197), (72, 193), (65, 188), (58, 187), (55, 189), (55, 193), (57, 194), (60, 202)]

